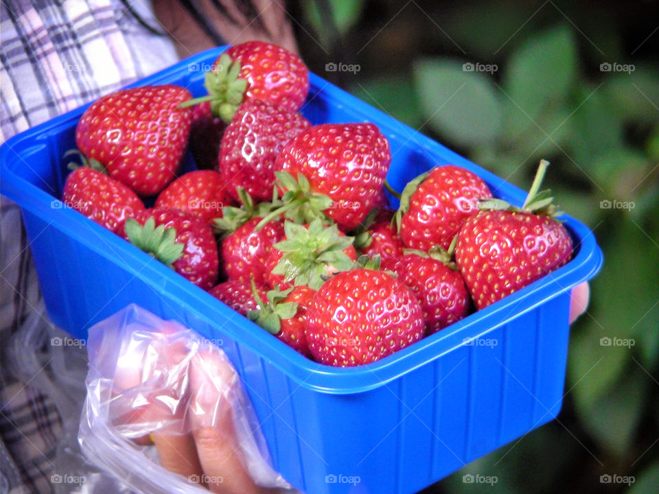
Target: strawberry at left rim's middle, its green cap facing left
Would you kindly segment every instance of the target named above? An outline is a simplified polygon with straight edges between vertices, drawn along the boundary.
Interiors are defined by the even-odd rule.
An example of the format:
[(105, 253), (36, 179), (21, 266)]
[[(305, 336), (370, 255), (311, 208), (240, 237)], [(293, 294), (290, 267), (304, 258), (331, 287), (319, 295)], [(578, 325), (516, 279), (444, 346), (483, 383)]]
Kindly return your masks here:
[(128, 241), (208, 290), (218, 280), (218, 247), (200, 217), (172, 208), (141, 211), (125, 225)]

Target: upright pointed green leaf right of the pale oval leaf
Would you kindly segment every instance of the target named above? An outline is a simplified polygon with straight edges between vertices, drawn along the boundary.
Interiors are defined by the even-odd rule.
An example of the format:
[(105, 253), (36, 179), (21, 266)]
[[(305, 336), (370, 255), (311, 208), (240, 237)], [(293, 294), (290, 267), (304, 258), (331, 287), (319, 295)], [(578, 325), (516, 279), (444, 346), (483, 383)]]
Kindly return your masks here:
[[(512, 55), (503, 89), (515, 106), (535, 121), (565, 99), (577, 75), (575, 36), (566, 25), (529, 37)], [(525, 125), (532, 122), (527, 118)]]

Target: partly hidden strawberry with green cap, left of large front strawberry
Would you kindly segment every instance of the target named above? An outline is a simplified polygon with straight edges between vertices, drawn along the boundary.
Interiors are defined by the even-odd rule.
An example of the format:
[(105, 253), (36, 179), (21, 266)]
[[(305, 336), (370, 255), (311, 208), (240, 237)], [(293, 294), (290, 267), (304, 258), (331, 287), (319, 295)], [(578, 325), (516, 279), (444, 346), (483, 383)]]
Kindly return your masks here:
[(259, 308), (249, 311), (247, 316), (292, 349), (309, 357), (311, 354), (304, 328), (315, 293), (315, 290), (307, 286), (284, 291), (270, 290), (268, 303), (259, 304)]

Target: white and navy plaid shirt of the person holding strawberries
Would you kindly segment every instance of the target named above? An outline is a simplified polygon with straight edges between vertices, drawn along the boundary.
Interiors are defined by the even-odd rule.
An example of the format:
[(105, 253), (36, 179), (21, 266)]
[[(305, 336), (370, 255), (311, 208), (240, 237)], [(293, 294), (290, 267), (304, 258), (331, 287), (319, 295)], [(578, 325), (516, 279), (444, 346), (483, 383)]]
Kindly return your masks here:
[[(148, 0), (126, 1), (153, 30), (163, 31)], [(148, 30), (120, 0), (3, 0), (0, 23), (0, 143), (177, 60), (166, 33)], [(43, 302), (19, 211), (5, 198), (1, 211), (5, 340)], [(54, 403), (10, 376), (6, 366), (0, 384), (0, 491), (52, 492), (62, 430)]]

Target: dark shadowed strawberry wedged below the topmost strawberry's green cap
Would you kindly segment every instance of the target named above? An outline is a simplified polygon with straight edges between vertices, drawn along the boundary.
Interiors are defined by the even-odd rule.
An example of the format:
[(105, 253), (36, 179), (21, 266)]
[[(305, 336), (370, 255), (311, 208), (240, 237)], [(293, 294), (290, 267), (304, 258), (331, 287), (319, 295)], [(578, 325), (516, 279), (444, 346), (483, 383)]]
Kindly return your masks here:
[(203, 102), (192, 109), (190, 150), (198, 169), (215, 169), (220, 155), (220, 143), (227, 124), (211, 112), (211, 104)]

